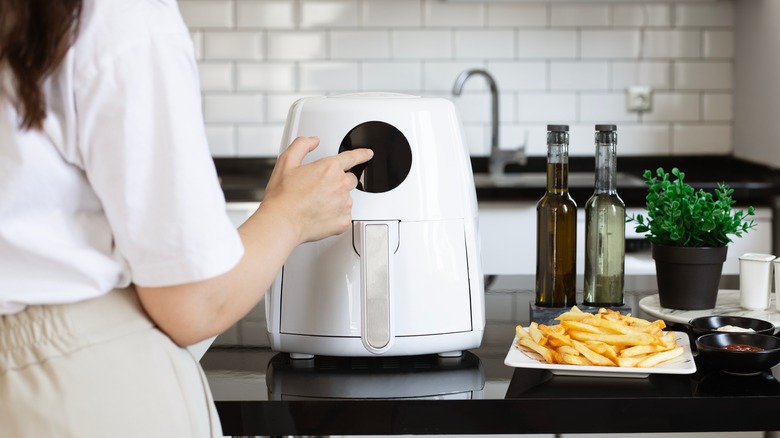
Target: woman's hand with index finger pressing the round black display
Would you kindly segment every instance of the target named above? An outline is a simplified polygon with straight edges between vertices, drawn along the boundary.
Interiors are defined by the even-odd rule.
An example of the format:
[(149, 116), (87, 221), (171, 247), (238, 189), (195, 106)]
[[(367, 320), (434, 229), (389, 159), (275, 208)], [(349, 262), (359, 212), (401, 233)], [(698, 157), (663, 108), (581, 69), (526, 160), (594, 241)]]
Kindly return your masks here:
[(298, 137), (276, 162), (260, 210), (287, 218), (298, 243), (343, 233), (352, 222), (352, 197), (357, 186), (352, 167), (373, 157), (370, 149), (355, 149), (302, 164), (320, 143), (317, 137)]

